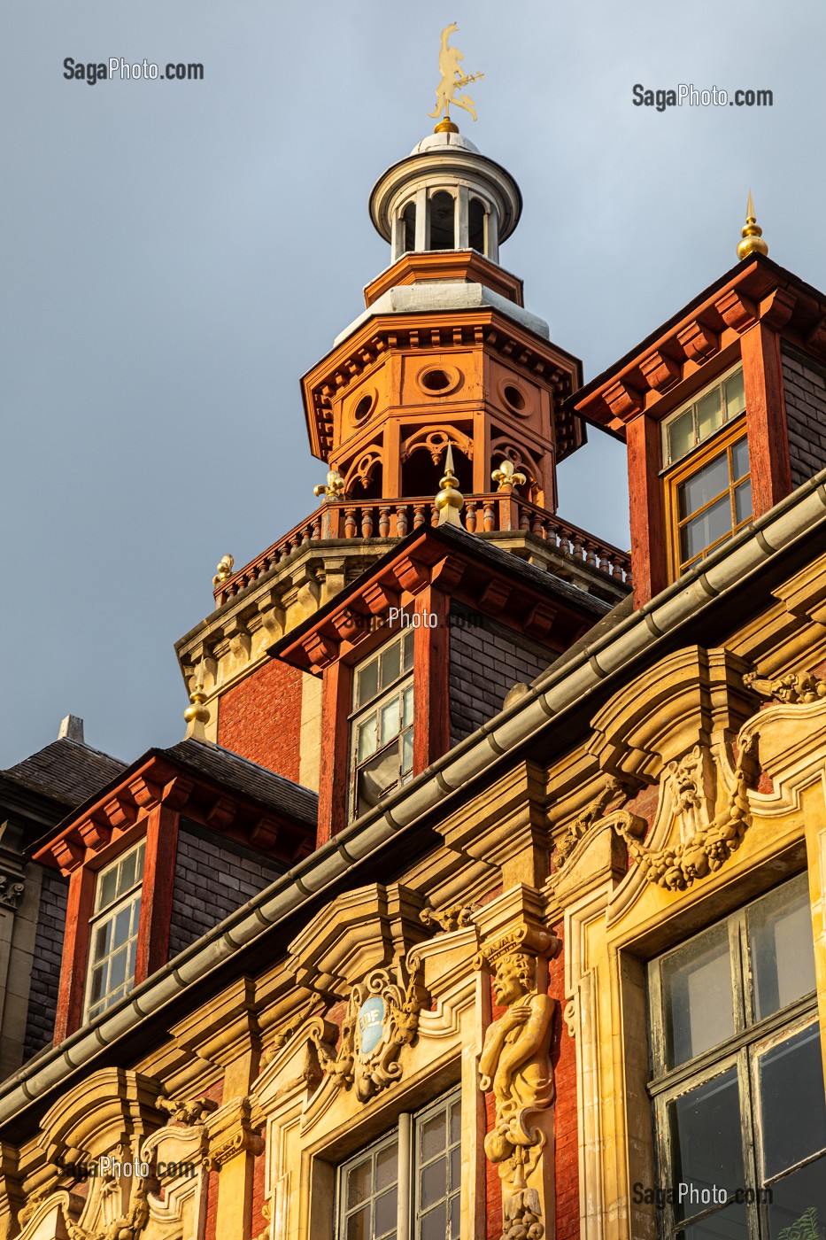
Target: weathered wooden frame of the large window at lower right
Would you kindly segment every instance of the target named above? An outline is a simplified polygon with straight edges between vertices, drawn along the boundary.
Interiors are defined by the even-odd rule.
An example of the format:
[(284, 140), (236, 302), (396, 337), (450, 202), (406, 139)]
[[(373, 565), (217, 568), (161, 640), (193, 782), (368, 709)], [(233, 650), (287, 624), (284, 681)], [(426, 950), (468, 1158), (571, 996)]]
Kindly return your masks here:
[[(807, 890), (807, 875), (804, 872), (794, 878), (786, 879), (780, 887), (799, 882)], [(774, 892), (779, 888), (774, 888)], [(743, 1178), (744, 1183), (737, 1188), (752, 1189), (752, 1199), (745, 1202), (749, 1235), (765, 1240), (769, 1236), (768, 1199), (765, 1190), (785, 1176), (793, 1173), (799, 1167), (804, 1167), (817, 1158), (824, 1157), (824, 1151), (809, 1156), (794, 1167), (784, 1168), (778, 1176), (769, 1177), (764, 1184), (760, 1167), (762, 1147), (762, 1117), (758, 1081), (758, 1064), (760, 1056), (773, 1043), (780, 1043), (800, 1033), (802, 1029), (817, 1023), (817, 991), (810, 991), (793, 1003), (779, 1008), (762, 1021), (754, 1019), (757, 1011), (754, 999), (753, 975), (749, 960), (748, 940), (748, 914), (760, 900), (769, 898), (773, 892), (763, 893), (749, 900), (735, 913), (731, 913), (721, 921), (713, 923), (698, 931), (713, 929), (714, 925), (724, 924), (728, 929), (729, 967), (732, 981), (732, 1003), (734, 1033), (724, 1042), (708, 1048), (693, 1059), (688, 1059), (675, 1068), (667, 1068), (667, 1047), (665, 1032), (665, 1006), (662, 992), (662, 965), (683, 944), (662, 952), (647, 966), (647, 991), (649, 991), (649, 1028), (651, 1045), (651, 1079), (647, 1084), (647, 1092), (652, 1102), (656, 1163), (660, 1169), (660, 1179), (664, 1185), (676, 1184), (673, 1173), (672, 1138), (668, 1123), (668, 1105), (691, 1089), (721, 1076), (734, 1068), (738, 1079), (738, 1095), (740, 1107), (740, 1126), (744, 1132), (743, 1148)], [(692, 936), (693, 937), (693, 936)], [(812, 936), (814, 942), (814, 936)], [(657, 1073), (657, 1069), (660, 1071)], [(723, 1207), (726, 1209), (726, 1207)], [(666, 1200), (660, 1214), (660, 1235), (662, 1240), (672, 1240), (690, 1226), (702, 1223), (719, 1213), (718, 1205), (709, 1205), (701, 1209), (687, 1219), (676, 1220), (673, 1216), (673, 1203)]]

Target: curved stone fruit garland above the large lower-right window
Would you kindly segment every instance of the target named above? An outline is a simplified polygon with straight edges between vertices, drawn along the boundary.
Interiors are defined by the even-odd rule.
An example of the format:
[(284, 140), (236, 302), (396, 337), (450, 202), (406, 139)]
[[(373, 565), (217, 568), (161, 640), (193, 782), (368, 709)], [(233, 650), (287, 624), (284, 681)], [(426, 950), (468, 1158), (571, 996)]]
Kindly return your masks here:
[(630, 856), (641, 868), (649, 883), (656, 883), (670, 892), (682, 892), (698, 878), (713, 873), (735, 852), (749, 826), (747, 792), (753, 787), (759, 768), (757, 763), (758, 733), (740, 737), (740, 749), (734, 769), (734, 789), (728, 804), (708, 825), (696, 831), (681, 844), (659, 851), (646, 848), (641, 842), (644, 820), (620, 810), (610, 815), (614, 830), (625, 839)]

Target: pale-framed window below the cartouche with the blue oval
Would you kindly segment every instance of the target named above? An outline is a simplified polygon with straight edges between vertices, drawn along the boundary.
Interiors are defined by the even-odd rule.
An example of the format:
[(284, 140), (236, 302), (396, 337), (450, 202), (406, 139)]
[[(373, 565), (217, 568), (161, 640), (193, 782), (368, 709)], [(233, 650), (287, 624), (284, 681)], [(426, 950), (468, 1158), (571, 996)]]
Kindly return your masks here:
[(336, 1240), (459, 1240), (460, 1111), (456, 1090), (339, 1168)]

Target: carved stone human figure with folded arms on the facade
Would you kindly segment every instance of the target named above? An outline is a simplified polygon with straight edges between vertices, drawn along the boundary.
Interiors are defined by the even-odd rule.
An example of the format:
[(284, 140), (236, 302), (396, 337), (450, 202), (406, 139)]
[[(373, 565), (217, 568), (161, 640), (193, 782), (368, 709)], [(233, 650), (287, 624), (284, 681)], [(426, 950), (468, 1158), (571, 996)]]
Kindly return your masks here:
[[(525, 950), (530, 931), (521, 926), (476, 957), (476, 967), (494, 975), (496, 1004), (507, 1011), (485, 1034), (479, 1061), (480, 1089), (492, 1090), (494, 1128), (485, 1137), (485, 1154), (499, 1164), (505, 1182), (502, 1240), (541, 1240), (544, 1225), (536, 1189), (527, 1178), (537, 1167), (546, 1137), (538, 1117), (554, 1100), (551, 1035), (554, 1001), (536, 986), (536, 956)], [(533, 932), (535, 947), (553, 955), (559, 941), (547, 931)]]

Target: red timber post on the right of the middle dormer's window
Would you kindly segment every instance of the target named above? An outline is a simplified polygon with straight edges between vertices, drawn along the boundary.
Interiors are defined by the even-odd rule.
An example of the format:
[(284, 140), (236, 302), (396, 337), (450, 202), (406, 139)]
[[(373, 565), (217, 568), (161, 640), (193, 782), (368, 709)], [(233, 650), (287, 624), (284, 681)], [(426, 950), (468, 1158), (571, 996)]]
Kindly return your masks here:
[[(434, 627), (424, 621), (435, 615)], [(450, 748), (450, 598), (427, 585), (415, 596), (413, 615), (413, 774), (418, 775)], [(433, 622), (433, 621), (430, 621)]]

